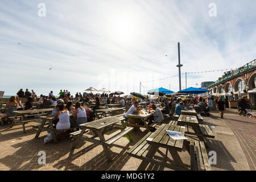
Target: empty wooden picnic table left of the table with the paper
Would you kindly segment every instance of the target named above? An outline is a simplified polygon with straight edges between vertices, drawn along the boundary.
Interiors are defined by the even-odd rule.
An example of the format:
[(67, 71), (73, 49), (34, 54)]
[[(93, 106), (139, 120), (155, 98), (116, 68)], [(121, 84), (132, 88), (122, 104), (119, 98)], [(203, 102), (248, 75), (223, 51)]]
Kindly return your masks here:
[[(72, 137), (76, 138), (76, 141), (73, 144), (72, 148), (75, 148), (80, 140), (101, 144), (102, 147), (104, 148), (104, 152), (106, 154), (107, 159), (111, 161), (112, 159), (110, 157), (110, 152), (108, 147), (111, 147), (116, 140), (118, 140), (119, 138), (125, 135), (127, 135), (130, 138), (129, 132), (133, 130), (133, 127), (125, 126), (125, 123), (123, 123), (124, 119), (125, 118), (123, 118), (123, 115), (121, 115), (121, 116), (102, 118), (96, 121), (92, 121), (92, 122), (84, 123), (80, 125), (82, 127), (82, 130), (71, 133)], [(107, 129), (109, 129), (110, 127), (110, 130), (111, 130), (114, 127), (115, 123), (120, 121), (123, 124), (123, 128), (121, 129), (121, 131), (118, 134), (106, 140), (104, 137), (104, 134), (106, 133)], [(95, 137), (99, 137), (100, 140), (94, 139), (95, 137), (89, 138), (84, 136), (84, 133), (89, 130), (93, 131), (93, 133), (95, 134)]]

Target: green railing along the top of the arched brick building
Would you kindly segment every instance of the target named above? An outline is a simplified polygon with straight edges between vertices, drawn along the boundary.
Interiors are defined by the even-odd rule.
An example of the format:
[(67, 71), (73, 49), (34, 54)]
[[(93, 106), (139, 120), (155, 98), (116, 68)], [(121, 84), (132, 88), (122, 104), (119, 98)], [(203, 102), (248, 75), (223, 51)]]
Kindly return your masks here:
[(220, 80), (215, 81), (213, 84), (207, 85), (207, 88), (210, 88), (213, 85), (216, 85), (222, 81), (228, 80), (229, 78), (234, 77), (242, 72), (246, 72), (248, 69), (251, 69), (253, 67), (256, 67), (256, 59), (251, 61), (250, 63), (247, 63), (246, 65), (243, 65), (243, 67), (230, 71), (228, 75), (222, 77)]

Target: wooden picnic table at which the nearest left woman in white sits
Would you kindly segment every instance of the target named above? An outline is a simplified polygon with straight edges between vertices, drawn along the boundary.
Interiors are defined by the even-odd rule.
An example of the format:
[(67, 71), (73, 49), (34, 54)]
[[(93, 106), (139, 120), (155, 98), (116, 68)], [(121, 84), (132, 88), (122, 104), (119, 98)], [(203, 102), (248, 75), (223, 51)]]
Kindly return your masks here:
[[(72, 116), (73, 116), (73, 114), (69, 114), (69, 117), (72, 117)], [(35, 138), (39, 137), (42, 130), (43, 131), (48, 131), (49, 133), (52, 134), (53, 141), (55, 143), (57, 143), (56, 134), (57, 133), (63, 133), (64, 131), (67, 131), (67, 130), (56, 130), (55, 129), (55, 127), (53, 126), (53, 120), (55, 119), (54, 115), (45, 115), (45, 116), (42, 116), (42, 117), (39, 117), (39, 118), (42, 119), (42, 122), (39, 123), (38, 125), (32, 125), (32, 127), (34, 127), (34, 129), (38, 129), (38, 132), (36, 133)], [(49, 127), (46, 127), (46, 126), (49, 126)]]

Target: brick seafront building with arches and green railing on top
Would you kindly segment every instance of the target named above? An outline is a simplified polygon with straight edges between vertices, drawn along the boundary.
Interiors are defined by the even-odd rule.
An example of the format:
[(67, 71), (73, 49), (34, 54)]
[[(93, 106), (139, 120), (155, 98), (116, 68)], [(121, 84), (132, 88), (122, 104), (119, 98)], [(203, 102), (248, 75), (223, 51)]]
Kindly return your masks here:
[(225, 96), (230, 107), (237, 107), (238, 98), (250, 98), (253, 109), (256, 103), (256, 60), (250, 61), (242, 67), (225, 72), (222, 77), (207, 85), (213, 96)]

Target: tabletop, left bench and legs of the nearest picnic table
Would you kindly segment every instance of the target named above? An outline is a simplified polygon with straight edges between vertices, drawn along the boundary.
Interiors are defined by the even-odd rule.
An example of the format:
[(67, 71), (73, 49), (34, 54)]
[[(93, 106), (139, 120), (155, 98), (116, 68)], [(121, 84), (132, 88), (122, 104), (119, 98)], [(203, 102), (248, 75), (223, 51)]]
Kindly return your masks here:
[[(127, 151), (127, 154), (133, 156), (134, 158), (142, 159), (143, 162), (141, 166), (147, 166), (147, 164), (151, 162), (153, 164), (159, 164), (166, 167), (173, 167), (173, 164), (166, 163), (168, 151), (172, 154), (174, 160), (181, 161), (177, 151), (182, 151), (183, 140), (172, 139), (167, 134), (166, 130), (179, 131), (184, 135), (185, 127), (163, 124), (154, 133), (148, 132), (141, 140), (139, 140), (139, 142), (134, 144), (134, 146)], [(184, 144), (189, 152), (189, 143), (186, 141)], [(163, 152), (159, 151), (159, 147), (166, 148), (166, 154), (163, 154)], [(148, 152), (145, 154), (147, 150)], [(159, 152), (159, 154), (164, 157), (164, 162), (153, 159), (156, 152)], [(138, 170), (141, 170), (140, 167)], [(181, 164), (179, 167), (185, 168), (183, 164)]]

